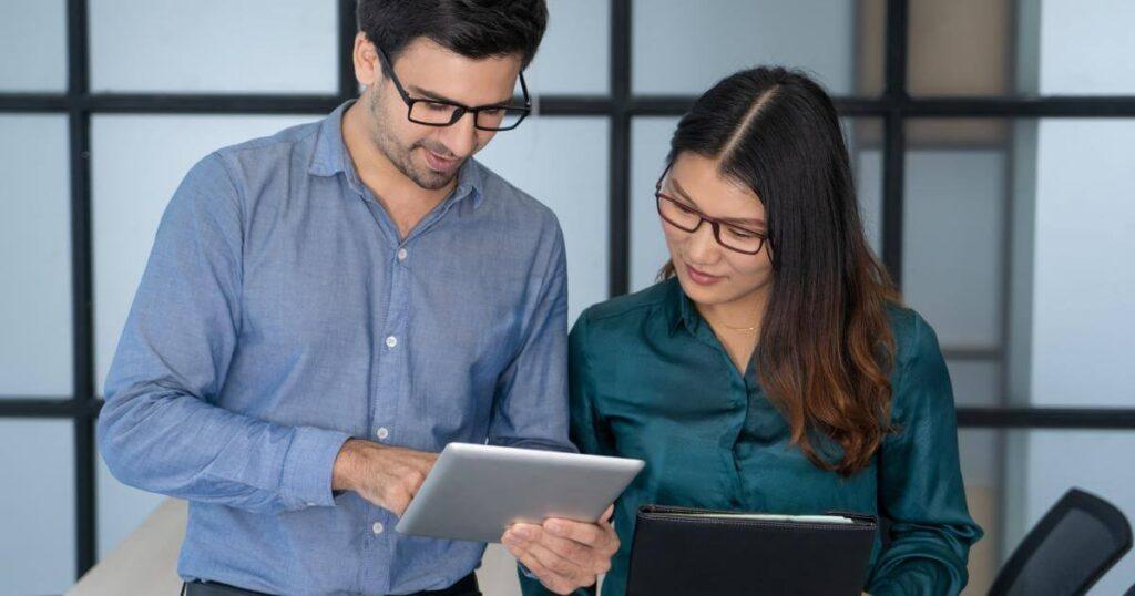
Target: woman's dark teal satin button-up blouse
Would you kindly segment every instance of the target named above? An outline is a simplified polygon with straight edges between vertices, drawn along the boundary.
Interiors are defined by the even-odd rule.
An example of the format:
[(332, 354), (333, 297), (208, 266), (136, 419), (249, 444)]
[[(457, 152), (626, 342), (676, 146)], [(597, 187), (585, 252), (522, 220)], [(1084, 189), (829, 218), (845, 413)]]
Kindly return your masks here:
[[(604, 595), (625, 591), (634, 513), (648, 503), (885, 515), (891, 544), (883, 551), (876, 537), (867, 591), (958, 594), (982, 530), (966, 507), (950, 378), (930, 325), (908, 309), (889, 314), (898, 347), (891, 415), (901, 430), (868, 468), (842, 478), (789, 445), (753, 364), (738, 372), (676, 279), (583, 312), (570, 338), (571, 438), (583, 453), (647, 462), (615, 505), (622, 547)], [(526, 594), (548, 594), (521, 581)]]

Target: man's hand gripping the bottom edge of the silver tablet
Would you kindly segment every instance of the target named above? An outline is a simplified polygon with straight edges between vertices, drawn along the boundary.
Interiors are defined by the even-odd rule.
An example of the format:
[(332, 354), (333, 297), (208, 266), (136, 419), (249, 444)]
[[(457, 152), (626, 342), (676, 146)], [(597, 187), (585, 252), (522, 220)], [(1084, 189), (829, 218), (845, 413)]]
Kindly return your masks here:
[(607, 511), (596, 523), (549, 519), (543, 526), (514, 523), (501, 542), (556, 594), (595, 584), (611, 569), (611, 556), (619, 551), (619, 536), (611, 527)]

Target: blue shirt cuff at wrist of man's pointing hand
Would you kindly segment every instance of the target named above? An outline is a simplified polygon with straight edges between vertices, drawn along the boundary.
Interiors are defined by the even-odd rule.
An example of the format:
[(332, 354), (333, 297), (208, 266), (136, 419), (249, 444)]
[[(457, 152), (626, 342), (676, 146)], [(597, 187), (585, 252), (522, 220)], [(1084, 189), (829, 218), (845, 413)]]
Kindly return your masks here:
[(289, 510), (335, 505), (331, 470), (339, 450), (350, 438), (350, 435), (338, 430), (295, 428), (284, 456), (280, 485), (280, 497)]

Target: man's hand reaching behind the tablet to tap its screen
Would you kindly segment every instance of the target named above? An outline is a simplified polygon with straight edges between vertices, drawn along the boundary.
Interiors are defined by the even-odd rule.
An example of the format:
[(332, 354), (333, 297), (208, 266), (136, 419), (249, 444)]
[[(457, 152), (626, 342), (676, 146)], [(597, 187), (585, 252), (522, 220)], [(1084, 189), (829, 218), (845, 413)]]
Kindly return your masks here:
[(353, 438), (335, 459), (331, 489), (354, 490), (401, 518), (436, 461), (436, 453)]

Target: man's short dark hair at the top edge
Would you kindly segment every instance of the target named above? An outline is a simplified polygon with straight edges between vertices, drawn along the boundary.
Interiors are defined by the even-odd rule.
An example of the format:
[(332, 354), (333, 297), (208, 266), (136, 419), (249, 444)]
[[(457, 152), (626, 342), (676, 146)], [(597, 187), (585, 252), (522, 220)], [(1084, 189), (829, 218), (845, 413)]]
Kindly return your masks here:
[(418, 37), (466, 58), (521, 54), (528, 67), (548, 24), (545, 0), (359, 0), (359, 31), (394, 62)]

